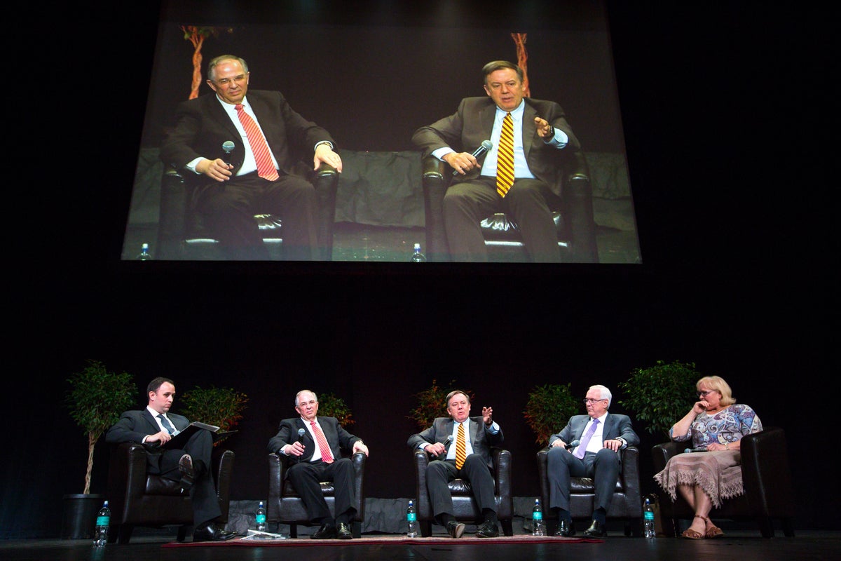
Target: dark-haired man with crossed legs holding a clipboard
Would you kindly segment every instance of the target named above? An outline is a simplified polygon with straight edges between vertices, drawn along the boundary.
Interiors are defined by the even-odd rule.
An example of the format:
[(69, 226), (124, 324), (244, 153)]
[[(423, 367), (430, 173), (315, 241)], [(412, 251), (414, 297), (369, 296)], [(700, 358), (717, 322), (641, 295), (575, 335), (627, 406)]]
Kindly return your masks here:
[(196, 431), (183, 449), (162, 447), (178, 431), (187, 428), (190, 421), (169, 412), (175, 396), (175, 383), (171, 379), (153, 379), (146, 394), (149, 397), (146, 408), (120, 415), (119, 421), (105, 433), (105, 442), (145, 445), (149, 473), (181, 482), (182, 490), (190, 494), (193, 504), (193, 542), (223, 542), (235, 537), (235, 532), (225, 532), (215, 524), (222, 512), (210, 471), (213, 435), (209, 431)]

